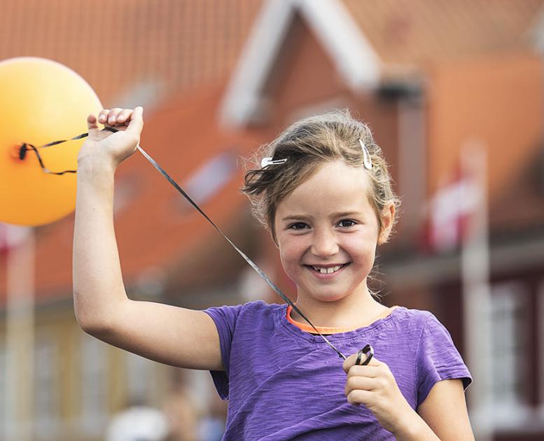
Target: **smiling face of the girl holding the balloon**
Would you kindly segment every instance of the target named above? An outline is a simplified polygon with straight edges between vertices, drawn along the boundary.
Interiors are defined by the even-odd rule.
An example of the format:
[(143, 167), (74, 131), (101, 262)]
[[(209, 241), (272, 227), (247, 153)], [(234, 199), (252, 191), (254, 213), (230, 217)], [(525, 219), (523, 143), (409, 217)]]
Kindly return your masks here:
[[(366, 277), (379, 239), (369, 191), (365, 169), (337, 161), (323, 165), (278, 204), (281, 265), (297, 284), (299, 301), (334, 302), (368, 293)], [(391, 209), (382, 216), (383, 239), (391, 216)]]

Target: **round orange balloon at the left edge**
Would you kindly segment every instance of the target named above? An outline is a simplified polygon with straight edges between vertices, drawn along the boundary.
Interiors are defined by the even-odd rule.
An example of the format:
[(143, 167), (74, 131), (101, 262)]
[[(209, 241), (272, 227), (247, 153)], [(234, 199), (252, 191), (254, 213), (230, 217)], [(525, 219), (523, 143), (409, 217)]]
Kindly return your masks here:
[[(76, 207), (76, 174), (47, 174), (34, 151), (23, 160), (23, 143), (43, 146), (87, 132), (89, 113), (102, 104), (76, 72), (50, 59), (20, 57), (0, 62), (0, 221), (44, 225)], [(77, 169), (85, 139), (38, 149), (51, 172)]]

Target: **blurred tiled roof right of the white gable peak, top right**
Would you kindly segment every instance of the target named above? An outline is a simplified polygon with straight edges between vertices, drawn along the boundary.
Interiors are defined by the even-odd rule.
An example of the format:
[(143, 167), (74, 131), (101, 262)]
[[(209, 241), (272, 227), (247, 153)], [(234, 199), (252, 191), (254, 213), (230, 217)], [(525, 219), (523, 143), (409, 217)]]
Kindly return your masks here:
[(527, 46), (542, 0), (343, 0), (385, 64), (427, 64)]

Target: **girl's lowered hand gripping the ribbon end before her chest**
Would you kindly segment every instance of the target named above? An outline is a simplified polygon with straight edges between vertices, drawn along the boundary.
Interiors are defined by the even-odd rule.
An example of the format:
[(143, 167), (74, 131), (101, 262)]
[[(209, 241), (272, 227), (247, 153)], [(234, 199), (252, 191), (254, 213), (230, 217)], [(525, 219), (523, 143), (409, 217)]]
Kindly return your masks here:
[(354, 354), (344, 360), (348, 402), (368, 407), (382, 427), (391, 433), (404, 431), (415, 411), (400, 392), (389, 366), (375, 357), (368, 365), (360, 366), (355, 364), (356, 358), (357, 354)]

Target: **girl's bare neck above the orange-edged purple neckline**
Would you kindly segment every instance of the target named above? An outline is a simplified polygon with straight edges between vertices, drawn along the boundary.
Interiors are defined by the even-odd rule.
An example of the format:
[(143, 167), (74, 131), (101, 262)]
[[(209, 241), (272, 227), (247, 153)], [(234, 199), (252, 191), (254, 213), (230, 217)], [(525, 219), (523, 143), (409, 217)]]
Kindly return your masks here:
[[(316, 326), (326, 328), (358, 328), (388, 309), (380, 304), (368, 290), (359, 295), (348, 295), (335, 302), (320, 302), (307, 296), (298, 296), (297, 307)], [(305, 322), (296, 312), (291, 311), (291, 318)]]

